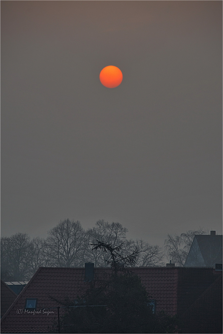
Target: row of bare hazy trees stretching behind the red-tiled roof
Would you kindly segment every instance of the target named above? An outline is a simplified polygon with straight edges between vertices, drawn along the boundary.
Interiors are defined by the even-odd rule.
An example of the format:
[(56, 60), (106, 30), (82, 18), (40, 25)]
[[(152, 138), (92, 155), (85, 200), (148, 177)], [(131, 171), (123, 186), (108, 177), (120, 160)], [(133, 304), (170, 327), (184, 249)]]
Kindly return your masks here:
[(29, 281), (39, 267), (84, 267), (92, 262), (95, 267), (107, 267), (109, 253), (92, 249), (91, 244), (104, 242), (111, 247), (121, 245), (123, 258), (135, 254), (134, 267), (164, 266), (167, 255), (183, 266), (195, 234), (206, 234), (201, 229), (181, 236), (168, 235), (164, 248), (142, 239), (127, 239), (127, 228), (118, 222), (98, 220), (93, 228), (85, 230), (80, 221), (65, 219), (48, 231), (47, 238), (30, 238), (27, 233), (16, 233), (1, 238), (1, 279)]

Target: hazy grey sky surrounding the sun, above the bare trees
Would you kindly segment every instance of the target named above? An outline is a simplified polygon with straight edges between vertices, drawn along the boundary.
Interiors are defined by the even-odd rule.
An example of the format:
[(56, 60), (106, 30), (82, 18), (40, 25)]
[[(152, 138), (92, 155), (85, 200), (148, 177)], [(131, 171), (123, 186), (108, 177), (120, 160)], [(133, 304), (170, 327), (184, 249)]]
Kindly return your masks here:
[(65, 218), (221, 234), (222, 1), (1, 1), (1, 235)]

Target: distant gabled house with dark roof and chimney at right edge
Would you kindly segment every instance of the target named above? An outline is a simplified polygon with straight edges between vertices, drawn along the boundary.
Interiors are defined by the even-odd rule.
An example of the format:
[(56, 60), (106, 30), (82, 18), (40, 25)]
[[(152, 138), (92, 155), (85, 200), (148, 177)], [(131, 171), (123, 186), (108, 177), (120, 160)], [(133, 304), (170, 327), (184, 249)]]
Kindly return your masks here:
[(195, 235), (185, 267), (215, 267), (222, 263), (222, 235)]

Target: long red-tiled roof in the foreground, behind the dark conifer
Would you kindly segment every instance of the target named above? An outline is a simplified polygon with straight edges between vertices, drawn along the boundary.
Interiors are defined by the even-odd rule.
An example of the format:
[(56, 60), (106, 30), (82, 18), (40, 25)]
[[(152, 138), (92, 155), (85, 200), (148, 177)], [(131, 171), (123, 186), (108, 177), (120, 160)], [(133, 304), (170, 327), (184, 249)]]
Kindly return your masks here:
[[(141, 278), (156, 311), (183, 314), (222, 272), (213, 268), (129, 268)], [(95, 268), (94, 279), (111, 268)], [(88, 286), (85, 268), (39, 268), (1, 319), (1, 333), (47, 333), (56, 331), (57, 300), (75, 300)], [(37, 299), (36, 313), (25, 312), (26, 299)], [(63, 314), (65, 309), (60, 309)], [(193, 333), (193, 329), (191, 331)], [(210, 332), (211, 333), (211, 332)], [(213, 333), (217, 333), (214, 331)]]

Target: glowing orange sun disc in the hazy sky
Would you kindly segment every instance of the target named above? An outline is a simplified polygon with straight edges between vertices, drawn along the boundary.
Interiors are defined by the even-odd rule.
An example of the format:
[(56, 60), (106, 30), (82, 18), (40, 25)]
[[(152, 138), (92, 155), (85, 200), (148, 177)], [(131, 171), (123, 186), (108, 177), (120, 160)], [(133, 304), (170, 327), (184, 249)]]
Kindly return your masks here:
[(122, 82), (122, 72), (116, 66), (106, 66), (101, 70), (99, 75), (102, 85), (107, 88), (115, 88)]

